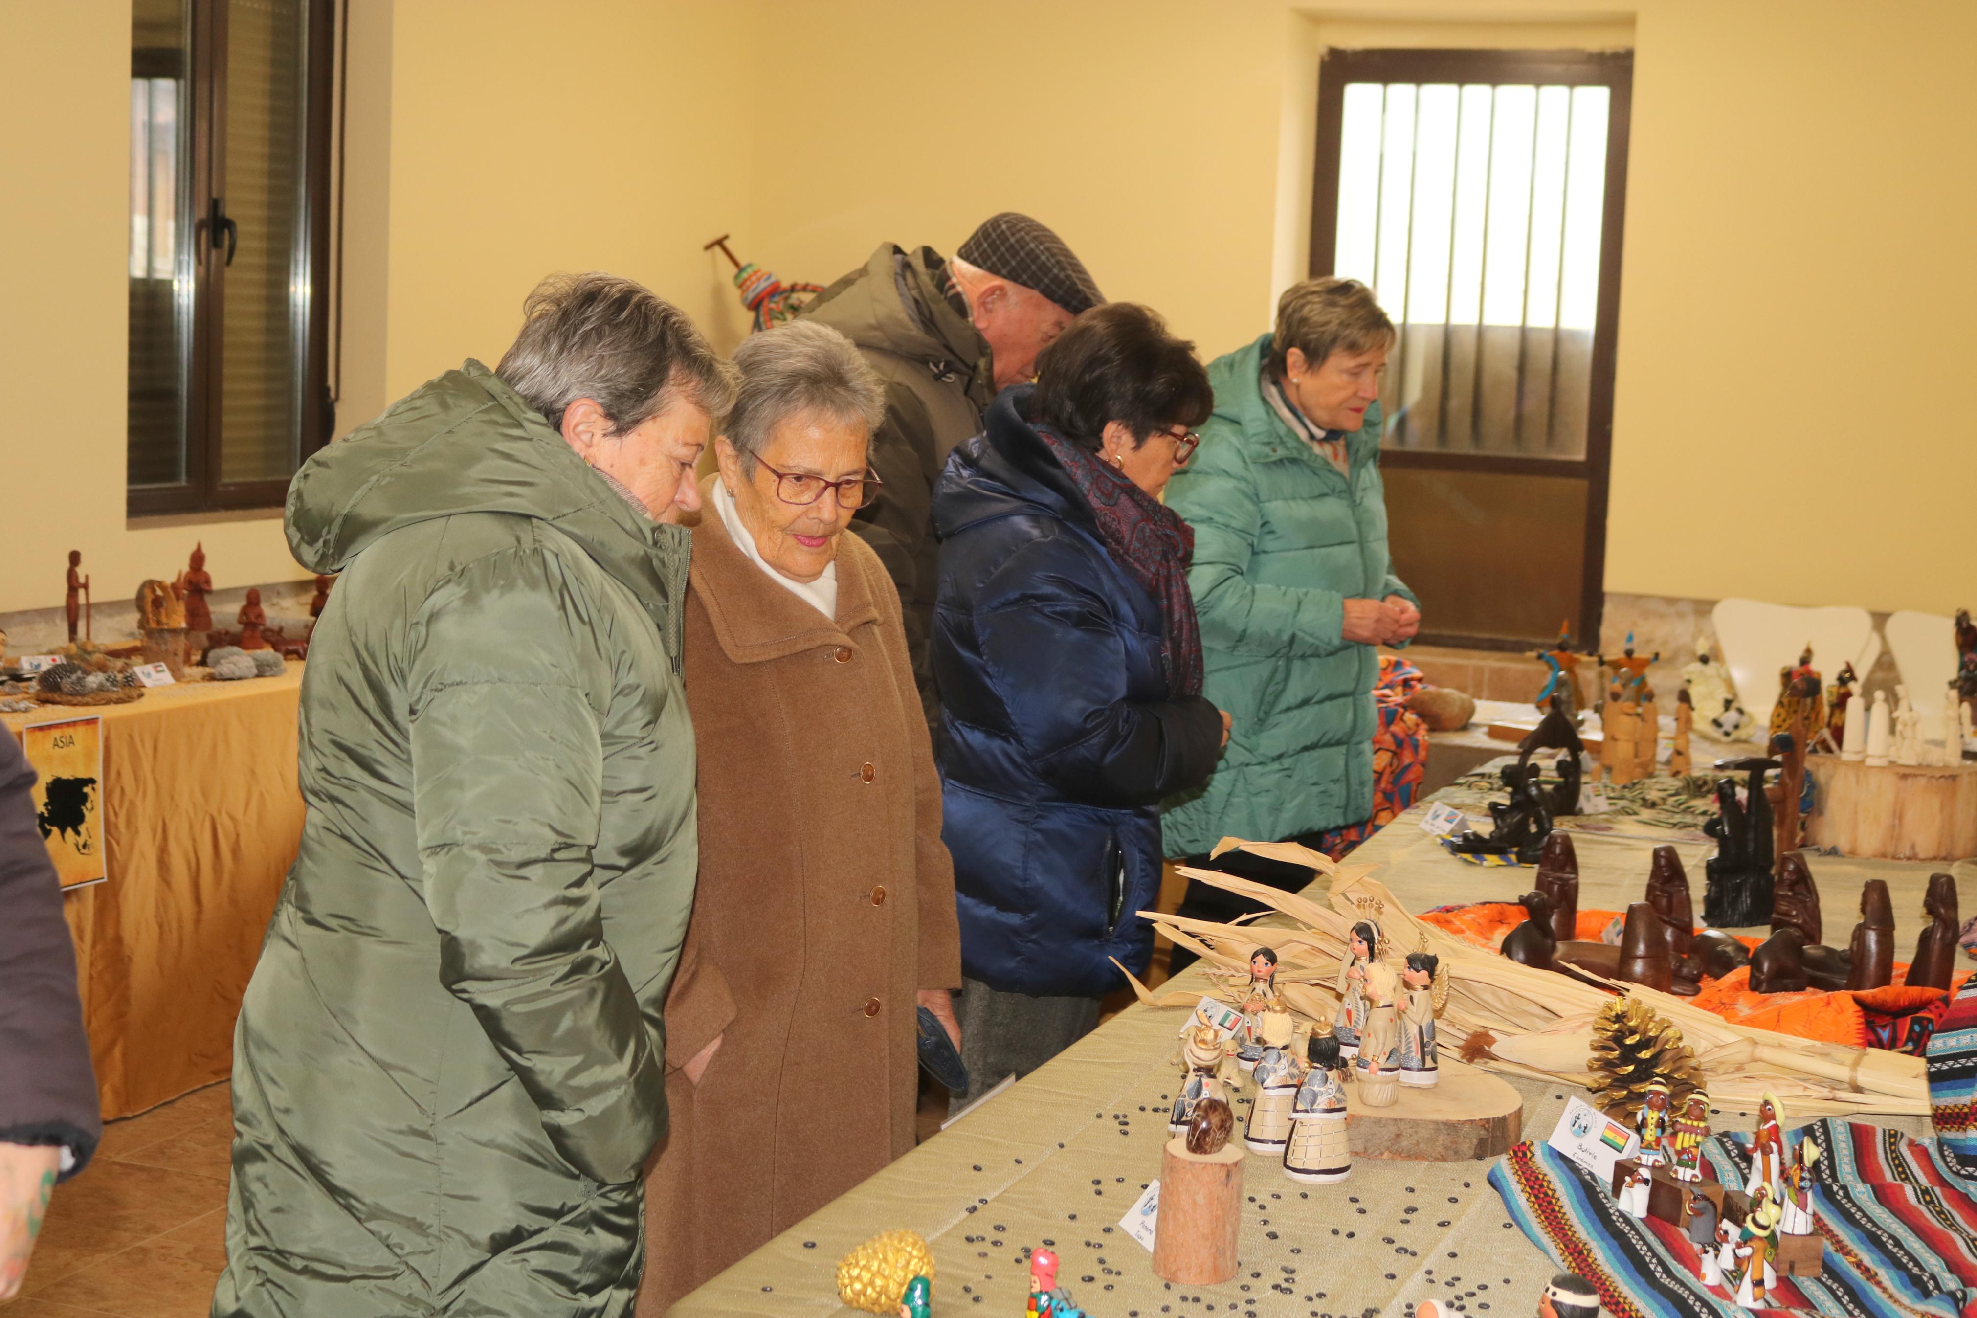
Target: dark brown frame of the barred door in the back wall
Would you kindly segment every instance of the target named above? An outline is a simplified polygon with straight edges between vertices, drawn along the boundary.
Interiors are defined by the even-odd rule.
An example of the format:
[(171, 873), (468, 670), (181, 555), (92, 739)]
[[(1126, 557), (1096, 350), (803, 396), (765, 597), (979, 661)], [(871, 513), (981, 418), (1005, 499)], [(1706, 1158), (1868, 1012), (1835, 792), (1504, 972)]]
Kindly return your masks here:
[[(1633, 51), (1572, 49), (1331, 49), (1319, 63), (1317, 164), (1311, 182), (1311, 275), (1334, 273), (1338, 249), (1338, 154), (1346, 83), (1534, 83), (1607, 87), (1605, 200), (1599, 217), (1599, 296), (1593, 312), (1586, 456), (1431, 453), (1380, 449), (1396, 468), (1580, 476), (1586, 480), (1586, 553), (1580, 638), (1599, 636), (1605, 613), (1607, 480), (1613, 468), (1613, 368), (1619, 338), (1619, 267), (1627, 223), (1627, 138), (1633, 115)], [(1400, 316), (1406, 320), (1406, 314)], [(1421, 632), (1427, 644), (1526, 648), (1520, 640)]]

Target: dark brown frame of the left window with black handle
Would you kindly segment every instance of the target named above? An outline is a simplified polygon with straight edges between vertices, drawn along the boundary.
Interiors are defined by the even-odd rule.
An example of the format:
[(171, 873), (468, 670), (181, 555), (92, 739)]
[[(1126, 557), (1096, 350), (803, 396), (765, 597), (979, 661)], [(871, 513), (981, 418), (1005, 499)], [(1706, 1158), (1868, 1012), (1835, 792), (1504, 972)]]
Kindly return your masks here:
[[(302, 350), (302, 401), (299, 417), (297, 466), (330, 439), (328, 423), (328, 324), (330, 300), (330, 115), (336, 63), (336, 4), (308, 0), (304, 87), (304, 223), (308, 227), (308, 342)], [(186, 354), (184, 423), (186, 478), (176, 484), (125, 488), (125, 512), (132, 518), (281, 508), (289, 480), (219, 478), (217, 417), (221, 381), (221, 308), (225, 290), (225, 247), (210, 233), (210, 200), (215, 198), (215, 166), (225, 154), (225, 4), (192, 0), (192, 41), (186, 49), (186, 101), (192, 107), (188, 148), (188, 223), (180, 243), (194, 245), (192, 332)]]

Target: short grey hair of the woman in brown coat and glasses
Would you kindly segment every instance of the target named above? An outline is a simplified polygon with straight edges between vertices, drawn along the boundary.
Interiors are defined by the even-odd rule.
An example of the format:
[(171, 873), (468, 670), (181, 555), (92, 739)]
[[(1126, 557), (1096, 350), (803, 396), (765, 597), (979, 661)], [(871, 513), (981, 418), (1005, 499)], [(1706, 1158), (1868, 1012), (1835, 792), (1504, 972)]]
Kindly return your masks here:
[(791, 417), (822, 413), (878, 429), (886, 415), (886, 387), (852, 340), (826, 324), (797, 320), (749, 336), (735, 348), (741, 389), (722, 423), (722, 435), (741, 456), (741, 472), (755, 474), (755, 458), (769, 431)]

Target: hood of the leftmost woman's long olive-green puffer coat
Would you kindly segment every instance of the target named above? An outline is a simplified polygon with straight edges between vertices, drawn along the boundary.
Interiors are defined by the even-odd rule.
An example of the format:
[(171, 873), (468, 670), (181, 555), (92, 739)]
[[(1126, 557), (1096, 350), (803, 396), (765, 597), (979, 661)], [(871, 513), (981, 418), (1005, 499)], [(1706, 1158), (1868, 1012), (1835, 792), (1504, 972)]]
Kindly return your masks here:
[(289, 484), (289, 549), (308, 571), (334, 573), (403, 526), (467, 512), (556, 526), (672, 634), (686, 528), (643, 518), (478, 362), (308, 458)]

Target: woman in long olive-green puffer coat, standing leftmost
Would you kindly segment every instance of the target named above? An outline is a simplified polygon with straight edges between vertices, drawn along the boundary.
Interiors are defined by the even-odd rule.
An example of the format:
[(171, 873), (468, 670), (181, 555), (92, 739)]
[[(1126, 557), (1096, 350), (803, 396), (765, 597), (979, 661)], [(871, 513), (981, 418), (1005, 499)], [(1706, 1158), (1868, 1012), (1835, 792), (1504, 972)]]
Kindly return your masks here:
[(233, 1043), (214, 1316), (631, 1312), (694, 897), (694, 460), (730, 368), (629, 281), (528, 300), (312, 456), (342, 573), (302, 678), (301, 854)]

